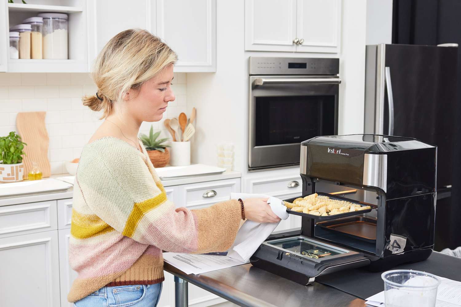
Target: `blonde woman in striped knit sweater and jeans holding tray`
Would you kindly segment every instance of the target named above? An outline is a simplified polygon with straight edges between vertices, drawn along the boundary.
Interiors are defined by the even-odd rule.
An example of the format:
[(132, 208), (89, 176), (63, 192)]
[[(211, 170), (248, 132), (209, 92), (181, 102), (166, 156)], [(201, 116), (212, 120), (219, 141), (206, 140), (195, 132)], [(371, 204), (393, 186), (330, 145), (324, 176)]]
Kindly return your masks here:
[(130, 29), (95, 62), (98, 87), (83, 104), (105, 121), (83, 148), (74, 185), (69, 261), (78, 277), (68, 300), (84, 306), (156, 306), (162, 250), (225, 251), (245, 217), (280, 219), (266, 199), (230, 200), (206, 209), (175, 208), (137, 138), (143, 121), (162, 119), (177, 56), (158, 37)]

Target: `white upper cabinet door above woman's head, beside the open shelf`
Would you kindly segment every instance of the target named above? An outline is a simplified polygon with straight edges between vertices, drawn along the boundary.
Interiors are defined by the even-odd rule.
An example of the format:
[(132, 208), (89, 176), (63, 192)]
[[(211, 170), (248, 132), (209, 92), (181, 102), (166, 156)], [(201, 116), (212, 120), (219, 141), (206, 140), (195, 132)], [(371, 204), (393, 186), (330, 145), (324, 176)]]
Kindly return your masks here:
[(152, 29), (155, 3), (151, 0), (130, 0), (123, 5), (112, 0), (91, 0), (88, 17), (89, 64), (102, 47), (119, 32), (126, 29)]

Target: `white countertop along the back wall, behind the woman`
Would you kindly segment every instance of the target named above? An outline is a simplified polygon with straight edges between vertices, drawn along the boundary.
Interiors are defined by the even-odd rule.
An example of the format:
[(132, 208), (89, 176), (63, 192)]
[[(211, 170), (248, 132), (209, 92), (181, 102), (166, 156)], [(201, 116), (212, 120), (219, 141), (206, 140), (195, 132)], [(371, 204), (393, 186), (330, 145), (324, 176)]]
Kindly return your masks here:
[[(51, 178), (64, 177), (64, 176), (71, 176), (71, 175), (70, 174), (52, 175)], [(164, 186), (187, 185), (187, 184), (197, 183), (197, 182), (240, 178), (241, 176), (242, 174), (240, 172), (225, 171), (222, 174), (202, 175), (202, 176), (184, 177), (184, 178), (172, 179), (172, 180), (162, 180), (162, 184)], [(35, 203), (35, 202), (44, 202), (47, 200), (54, 200), (54, 199), (72, 198), (72, 195), (73, 195), (73, 187), (69, 188), (65, 192), (60, 192), (60, 193), (44, 193), (44, 194), (30, 195), (30, 196), (1, 198), (0, 207), (16, 205), (19, 203)]]

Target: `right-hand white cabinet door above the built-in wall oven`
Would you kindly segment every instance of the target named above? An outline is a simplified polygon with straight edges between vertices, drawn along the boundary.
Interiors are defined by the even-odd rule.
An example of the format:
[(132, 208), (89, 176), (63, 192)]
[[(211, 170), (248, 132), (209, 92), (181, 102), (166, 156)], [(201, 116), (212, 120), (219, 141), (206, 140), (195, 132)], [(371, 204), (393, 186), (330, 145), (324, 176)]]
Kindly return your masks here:
[(297, 0), (297, 52), (339, 52), (341, 0)]

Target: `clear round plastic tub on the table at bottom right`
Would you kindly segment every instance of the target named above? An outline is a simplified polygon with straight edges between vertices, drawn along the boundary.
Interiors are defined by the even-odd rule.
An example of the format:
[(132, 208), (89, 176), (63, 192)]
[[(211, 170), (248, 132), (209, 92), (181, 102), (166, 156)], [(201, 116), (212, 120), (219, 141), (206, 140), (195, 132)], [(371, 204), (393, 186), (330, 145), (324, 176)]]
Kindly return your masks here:
[(434, 307), (440, 278), (413, 270), (392, 270), (381, 274), (386, 307)]

